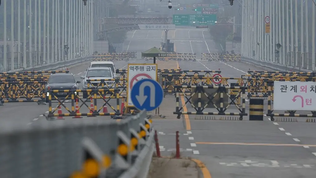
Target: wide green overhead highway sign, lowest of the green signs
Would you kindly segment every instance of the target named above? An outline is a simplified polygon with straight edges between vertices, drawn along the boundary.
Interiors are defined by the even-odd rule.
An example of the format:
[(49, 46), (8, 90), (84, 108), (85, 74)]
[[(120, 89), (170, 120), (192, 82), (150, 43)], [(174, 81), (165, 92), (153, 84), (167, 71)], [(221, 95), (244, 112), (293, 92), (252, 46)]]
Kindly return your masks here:
[(217, 21), (216, 14), (202, 15), (173, 15), (173, 23), (177, 26), (188, 25), (215, 25)]

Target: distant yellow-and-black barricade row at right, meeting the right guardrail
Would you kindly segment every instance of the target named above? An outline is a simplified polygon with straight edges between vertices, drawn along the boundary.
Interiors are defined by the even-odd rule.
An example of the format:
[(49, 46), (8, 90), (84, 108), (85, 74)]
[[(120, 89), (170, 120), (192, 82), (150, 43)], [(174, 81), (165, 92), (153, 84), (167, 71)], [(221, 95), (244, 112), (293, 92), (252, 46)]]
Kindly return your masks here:
[(201, 53), (201, 60), (240, 62), (241, 54)]

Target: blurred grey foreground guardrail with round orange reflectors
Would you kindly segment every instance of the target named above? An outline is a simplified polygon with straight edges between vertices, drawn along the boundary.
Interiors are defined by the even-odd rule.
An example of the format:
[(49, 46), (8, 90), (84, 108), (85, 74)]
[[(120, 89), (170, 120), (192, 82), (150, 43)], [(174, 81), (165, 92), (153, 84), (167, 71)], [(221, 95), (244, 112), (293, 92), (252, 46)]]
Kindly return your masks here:
[[(155, 133), (146, 116), (142, 111), (120, 122), (79, 119), (39, 122), (28, 127), (3, 123), (0, 175), (56, 178), (89, 172), (109, 178), (146, 178)], [(133, 151), (127, 149), (132, 145)], [(98, 164), (91, 164), (91, 159)], [(87, 170), (84, 167), (88, 160)]]

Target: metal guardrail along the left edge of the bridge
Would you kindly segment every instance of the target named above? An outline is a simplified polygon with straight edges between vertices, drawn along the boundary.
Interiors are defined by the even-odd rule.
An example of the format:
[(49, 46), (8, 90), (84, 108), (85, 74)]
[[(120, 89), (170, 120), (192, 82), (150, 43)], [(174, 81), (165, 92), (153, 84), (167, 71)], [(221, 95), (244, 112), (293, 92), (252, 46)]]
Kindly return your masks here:
[(20, 68), (20, 69), (16, 69), (16, 70), (7, 71), (7, 72), (56, 70), (56, 69), (59, 69), (62, 67), (68, 67), (68, 66), (82, 63), (82, 62), (89, 61), (89, 60), (92, 60), (92, 56), (86, 56), (83, 58), (76, 58), (76, 59), (66, 60), (66, 61), (59, 61), (59, 62), (44, 64), (44, 65), (40, 65), (40, 66)]

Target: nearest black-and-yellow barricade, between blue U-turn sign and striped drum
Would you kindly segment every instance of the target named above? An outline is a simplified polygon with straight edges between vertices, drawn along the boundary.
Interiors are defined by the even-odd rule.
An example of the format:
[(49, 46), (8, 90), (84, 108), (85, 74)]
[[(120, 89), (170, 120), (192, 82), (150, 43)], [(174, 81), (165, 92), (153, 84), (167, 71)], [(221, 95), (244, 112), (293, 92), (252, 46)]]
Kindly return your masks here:
[[(223, 115), (223, 116), (240, 116), (240, 120), (243, 119), (243, 116), (247, 116), (246, 113), (246, 105), (245, 105), (245, 92), (246, 87), (238, 87), (238, 86), (174, 86), (176, 90), (176, 111), (173, 112), (173, 114), (177, 114), (177, 118), (180, 118), (181, 114), (188, 114), (188, 115)], [(183, 111), (183, 105), (182, 107), (179, 104), (180, 101), (180, 95), (179, 93), (182, 93), (182, 89), (184, 88), (191, 88), (192, 91), (194, 91), (190, 97), (185, 96), (185, 103), (183, 105), (186, 105), (187, 103), (190, 103), (192, 108), (188, 108), (191, 111)], [(215, 89), (216, 91), (214, 93), (207, 93), (205, 89)], [(231, 99), (228, 94), (228, 89), (240, 89), (240, 92), (237, 94), (238, 96), (242, 97), (242, 108), (240, 108), (234, 99)], [(191, 102), (192, 96), (197, 95), (198, 96), (198, 103), (197, 105), (194, 105)], [(228, 96), (229, 101), (225, 101), (224, 95)], [(202, 100), (202, 98), (206, 98), (206, 100)], [(224, 106), (224, 103), (227, 103), (227, 106)], [(207, 105), (213, 105), (216, 112), (205, 112)], [(230, 105), (235, 105), (237, 111), (239, 112), (227, 112), (228, 107)], [(230, 110), (230, 109), (229, 109)]]

